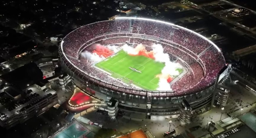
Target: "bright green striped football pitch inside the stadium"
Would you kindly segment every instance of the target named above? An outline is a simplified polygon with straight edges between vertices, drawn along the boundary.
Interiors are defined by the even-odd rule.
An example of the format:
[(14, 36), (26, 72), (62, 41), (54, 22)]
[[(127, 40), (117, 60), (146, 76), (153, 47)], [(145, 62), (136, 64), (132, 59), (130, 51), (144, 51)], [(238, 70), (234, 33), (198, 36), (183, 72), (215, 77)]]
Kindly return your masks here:
[[(131, 56), (121, 50), (114, 56), (98, 62), (95, 66), (109, 72), (112, 77), (121, 79), (126, 84), (132, 83), (142, 89), (156, 90), (159, 82), (156, 75), (161, 73), (165, 64), (145, 56)], [(183, 72), (183, 69), (177, 68), (177, 70), (180, 73)]]

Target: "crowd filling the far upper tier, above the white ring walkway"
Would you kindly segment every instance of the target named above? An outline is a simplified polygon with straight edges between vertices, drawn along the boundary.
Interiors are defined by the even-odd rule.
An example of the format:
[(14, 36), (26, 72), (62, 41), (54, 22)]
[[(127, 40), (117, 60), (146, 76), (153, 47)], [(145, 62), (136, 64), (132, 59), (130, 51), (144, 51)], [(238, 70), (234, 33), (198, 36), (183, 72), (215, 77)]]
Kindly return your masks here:
[[(211, 45), (208, 41), (195, 34), (166, 24), (142, 20), (135, 20), (133, 23), (131, 20), (112, 20), (89, 24), (74, 30), (64, 39), (64, 52), (69, 56), (77, 57), (76, 54), (78, 53), (77, 51), (80, 50), (79, 48), (89, 40), (97, 41), (108, 37), (126, 36), (127, 34), (121, 32), (129, 32), (131, 26), (133, 26), (132, 33), (151, 35), (171, 40), (182, 45), (183, 50), (186, 52), (192, 52), (192, 55), (198, 55)], [(120, 33), (109, 34), (113, 32)], [(96, 37), (102, 34), (104, 34), (104, 36)], [(94, 37), (96, 38), (93, 39)]]

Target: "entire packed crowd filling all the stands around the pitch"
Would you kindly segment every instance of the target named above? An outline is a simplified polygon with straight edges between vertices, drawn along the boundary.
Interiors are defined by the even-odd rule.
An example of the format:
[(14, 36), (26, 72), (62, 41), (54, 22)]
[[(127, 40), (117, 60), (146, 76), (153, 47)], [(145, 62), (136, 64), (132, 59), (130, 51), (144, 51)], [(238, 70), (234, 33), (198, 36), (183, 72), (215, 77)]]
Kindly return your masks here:
[[(87, 72), (87, 74), (91, 77), (96, 78), (96, 80), (93, 79), (93, 82), (97, 82), (97, 79), (99, 79), (105, 80), (109, 83), (104, 84), (103, 82), (97, 82), (100, 86), (109, 86), (112, 90), (115, 91), (121, 90), (116, 86), (134, 89), (132, 86), (123, 84), (121, 80), (112, 79), (106, 73), (94, 69), (91, 66), (90, 61), (79, 58), (77, 55), (75, 55), (82, 44), (86, 42), (89, 44), (95, 40), (98, 41), (97, 43), (104, 45), (125, 43), (127, 41), (136, 44), (142, 43), (144, 45), (152, 45), (153, 43), (156, 43), (156, 41), (151, 39), (132, 37), (132, 34), (129, 33), (111, 34), (111, 32), (130, 31), (131, 26), (133, 27), (132, 33), (163, 38), (161, 41), (159, 41), (159, 43), (161, 43), (161, 45), (164, 47), (166, 53), (172, 55), (171, 59), (190, 68), (189, 71), (180, 80), (172, 85), (172, 89), (175, 93), (152, 93), (152, 95), (172, 96), (176, 94), (179, 95), (181, 93), (190, 93), (202, 90), (214, 82), (217, 73), (224, 67), (225, 62), (222, 54), (217, 51), (217, 49), (208, 41), (183, 29), (178, 29), (166, 24), (154, 23), (150, 21), (134, 20), (134, 22), (131, 22), (131, 20), (114, 20), (83, 26), (64, 38), (64, 52), (65, 54), (80, 60), (79, 61), (70, 58), (72, 63), (75, 64), (78, 68)], [(99, 36), (101, 34), (105, 35)], [(95, 39), (92, 39), (94, 37)], [(93, 50), (93, 47), (90, 45), (84, 44), (84, 46), (87, 46), (85, 48), (87, 51)], [(198, 57), (198, 54), (209, 46), (212, 47), (205, 51), (203, 54), (200, 54)], [(151, 48), (147, 47), (147, 50), (151, 50)], [(198, 59), (201, 59), (201, 61)], [(205, 68), (202, 67), (198, 62), (200, 62), (200, 64), (204, 64)], [(184, 63), (186, 63), (186, 65)], [(72, 69), (75, 70), (74, 68)], [(82, 75), (82, 73), (79, 73), (78, 71), (75, 73)], [(112, 86), (110, 84), (115, 84), (116, 86)], [(129, 90), (126, 92), (128, 91)], [(136, 91), (131, 90), (131, 93), (136, 93)], [(138, 93), (140, 92), (138, 91)]]

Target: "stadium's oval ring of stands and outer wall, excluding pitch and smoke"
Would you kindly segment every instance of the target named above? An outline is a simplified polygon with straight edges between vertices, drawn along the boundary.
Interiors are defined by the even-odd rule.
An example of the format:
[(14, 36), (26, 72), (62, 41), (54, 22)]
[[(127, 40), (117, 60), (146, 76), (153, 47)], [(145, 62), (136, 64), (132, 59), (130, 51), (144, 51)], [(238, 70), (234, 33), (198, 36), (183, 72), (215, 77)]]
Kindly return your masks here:
[[(95, 44), (160, 43), (165, 52), (188, 69), (172, 85), (172, 91), (149, 91), (97, 76), (80, 53)], [(118, 100), (118, 108), (147, 116), (178, 115), (183, 100), (192, 110), (211, 103), (214, 84), (225, 66), (220, 49), (204, 36), (171, 23), (135, 17), (119, 17), (82, 26), (66, 35), (59, 47), (64, 71), (80, 89), (102, 101)], [(77, 109), (78, 107), (73, 107)]]

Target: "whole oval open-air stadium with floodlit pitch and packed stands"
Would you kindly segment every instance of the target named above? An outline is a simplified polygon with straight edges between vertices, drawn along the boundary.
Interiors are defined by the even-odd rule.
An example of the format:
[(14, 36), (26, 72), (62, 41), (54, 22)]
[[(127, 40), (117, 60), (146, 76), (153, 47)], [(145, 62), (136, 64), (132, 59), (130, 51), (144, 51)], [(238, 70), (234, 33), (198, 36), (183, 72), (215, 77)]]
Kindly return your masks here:
[(63, 38), (59, 54), (77, 87), (102, 101), (117, 99), (126, 112), (149, 116), (178, 114), (184, 99), (192, 110), (204, 107), (225, 66), (220, 49), (206, 37), (136, 17), (82, 26)]

